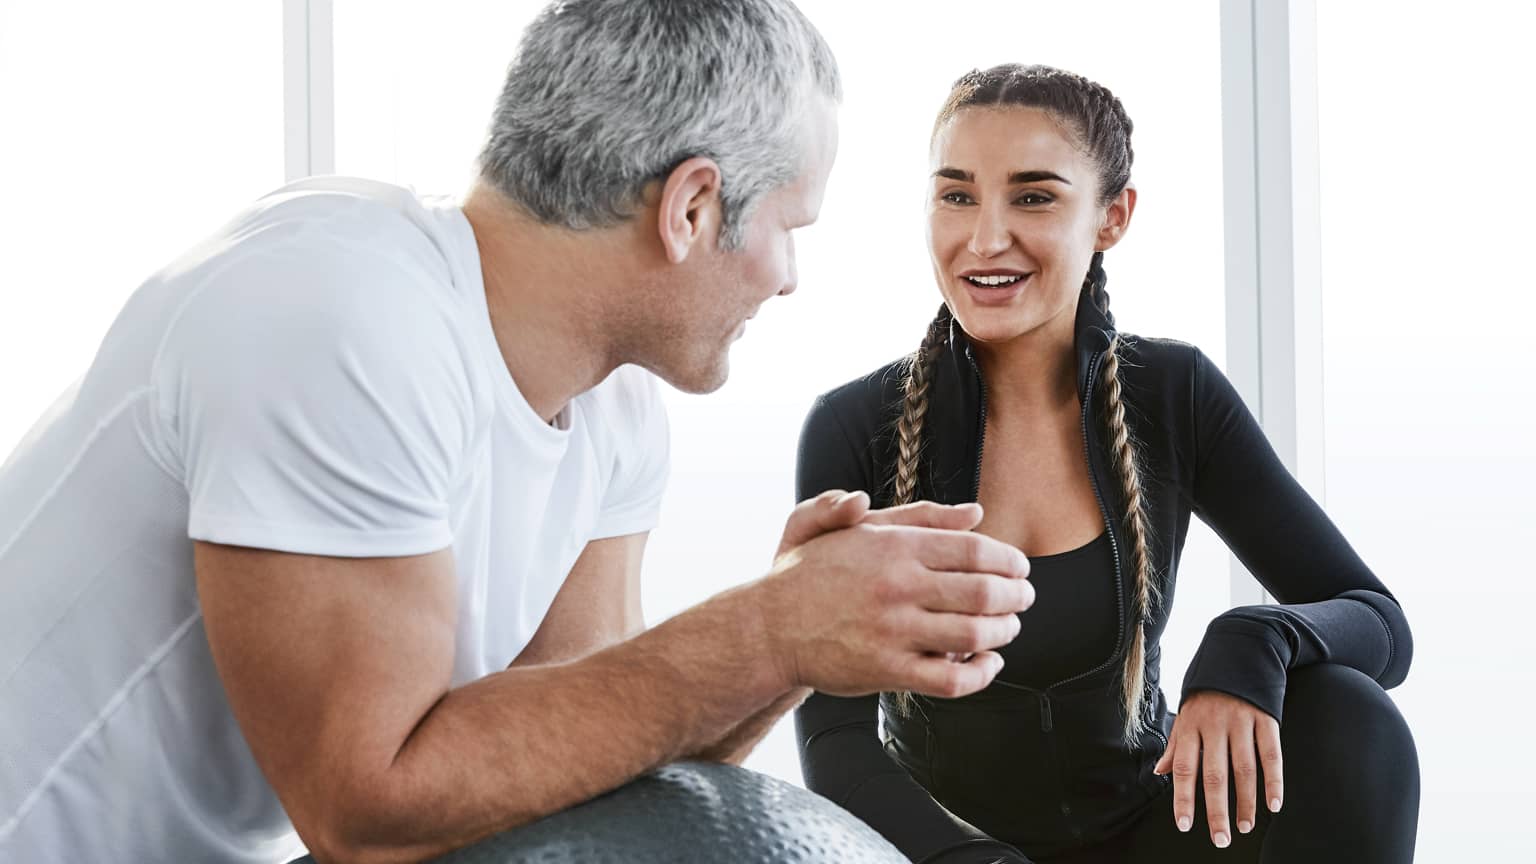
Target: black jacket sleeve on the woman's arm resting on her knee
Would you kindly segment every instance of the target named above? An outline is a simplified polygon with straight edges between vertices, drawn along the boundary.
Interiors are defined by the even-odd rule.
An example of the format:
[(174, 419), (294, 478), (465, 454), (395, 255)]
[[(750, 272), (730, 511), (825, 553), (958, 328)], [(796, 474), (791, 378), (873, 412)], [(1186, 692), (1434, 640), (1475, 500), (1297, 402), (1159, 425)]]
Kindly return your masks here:
[(1220, 690), (1281, 719), (1292, 669), (1336, 663), (1382, 687), (1401, 684), (1413, 660), (1402, 607), (1200, 349), (1190, 374), (1193, 510), (1279, 604), (1240, 606), (1212, 621), (1184, 675), (1184, 695)]

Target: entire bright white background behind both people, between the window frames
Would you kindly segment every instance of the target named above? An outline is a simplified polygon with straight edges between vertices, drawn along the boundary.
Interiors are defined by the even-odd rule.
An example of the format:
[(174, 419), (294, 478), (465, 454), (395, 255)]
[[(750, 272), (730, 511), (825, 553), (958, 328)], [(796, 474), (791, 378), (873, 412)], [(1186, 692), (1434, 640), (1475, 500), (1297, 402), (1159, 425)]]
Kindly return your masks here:
[[(338, 172), (461, 192), (538, 6), (336, 0)], [(1514, 549), (1536, 486), (1516, 354), (1536, 311), (1516, 258), (1531, 26), (1493, 2), (1319, 6), (1327, 507), (1415, 627), (1393, 695), (1424, 767), (1419, 859), (1511, 859), (1533, 769), (1536, 567)], [(1107, 260), (1117, 318), (1224, 355), (1215, 0), (802, 8), (845, 77), (839, 164), (797, 237), (800, 291), (753, 321), (720, 392), (668, 394), (653, 624), (766, 567), (811, 398), (922, 335), (938, 301), (928, 132), (966, 69), (1043, 61), (1123, 98), (1140, 206)], [(283, 181), (280, 11), (0, 0), (0, 461), (138, 281)], [(1226, 606), (1226, 553), (1197, 524), (1166, 636), (1174, 690)], [(788, 723), (748, 764), (799, 783)]]

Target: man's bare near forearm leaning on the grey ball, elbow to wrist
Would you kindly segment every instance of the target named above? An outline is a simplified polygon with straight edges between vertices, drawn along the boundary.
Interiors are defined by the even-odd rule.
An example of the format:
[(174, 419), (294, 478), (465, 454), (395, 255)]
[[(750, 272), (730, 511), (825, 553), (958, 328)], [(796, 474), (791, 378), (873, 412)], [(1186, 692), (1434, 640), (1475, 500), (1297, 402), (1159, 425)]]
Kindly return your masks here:
[[(582, 660), (449, 692), (336, 830), (338, 855), (432, 858), (722, 743), (788, 703), (736, 589)], [(785, 710), (788, 710), (785, 707)], [(779, 712), (782, 713), (782, 710)], [(751, 730), (751, 744), (771, 727)], [(743, 730), (745, 733), (746, 730)]]

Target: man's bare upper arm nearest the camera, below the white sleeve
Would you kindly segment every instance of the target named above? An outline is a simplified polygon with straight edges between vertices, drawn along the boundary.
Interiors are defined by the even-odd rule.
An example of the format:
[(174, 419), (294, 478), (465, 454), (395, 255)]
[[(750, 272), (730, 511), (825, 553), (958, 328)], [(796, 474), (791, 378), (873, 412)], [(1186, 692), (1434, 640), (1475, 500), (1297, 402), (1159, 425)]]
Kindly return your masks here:
[(390, 767), (447, 693), (453, 557), (327, 558), (195, 544), (230, 709), (303, 833)]

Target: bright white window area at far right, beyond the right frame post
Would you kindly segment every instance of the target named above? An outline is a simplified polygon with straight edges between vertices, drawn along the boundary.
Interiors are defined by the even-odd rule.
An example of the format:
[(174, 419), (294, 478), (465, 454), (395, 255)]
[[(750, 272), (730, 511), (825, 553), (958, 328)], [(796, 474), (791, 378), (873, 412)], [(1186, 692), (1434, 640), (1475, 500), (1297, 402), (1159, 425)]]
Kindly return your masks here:
[(1318, 3), (1327, 509), (1413, 626), (1428, 862), (1536, 858), (1533, 32), (1527, 3)]

